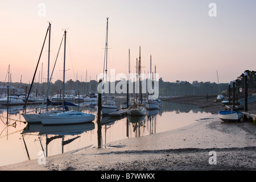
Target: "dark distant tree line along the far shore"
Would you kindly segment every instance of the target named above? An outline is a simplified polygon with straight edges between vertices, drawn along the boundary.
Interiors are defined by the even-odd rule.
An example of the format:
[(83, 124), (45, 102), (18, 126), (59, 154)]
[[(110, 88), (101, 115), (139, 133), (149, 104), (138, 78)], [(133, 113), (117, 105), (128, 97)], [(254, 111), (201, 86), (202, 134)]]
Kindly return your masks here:
[[(249, 88), (256, 88), (256, 72), (246, 70), (248, 73), (248, 86)], [(244, 72), (244, 73), (245, 73)], [(236, 87), (244, 87), (244, 73), (241, 76), (237, 77)], [(115, 81), (115, 85), (119, 81)], [(133, 83), (133, 88), (135, 89), (135, 82)], [(225, 91), (229, 88), (229, 83), (216, 84), (216, 82), (199, 82), (193, 81), (192, 83), (188, 81), (179, 81), (176, 82), (168, 82), (163, 81), (162, 78), (159, 79), (159, 96), (187, 96), (187, 95), (216, 95), (219, 93), (225, 94)], [(0, 85), (9, 85), (8, 83), (0, 82)], [(19, 82), (11, 83), (15, 88), (26, 90), (27, 93), (30, 89), (31, 84), (23, 84)], [(97, 85), (98, 81), (91, 80), (90, 82), (80, 82), (79, 80), (73, 81), (68, 80), (65, 82), (65, 93), (78, 94), (89, 94), (89, 92), (97, 93)], [(35, 82), (33, 84), (32, 92), (38, 93), (40, 95), (45, 94), (47, 89), (47, 82), (43, 82), (40, 84), (39, 82)], [(49, 84), (49, 95), (57, 94), (63, 90), (63, 81), (56, 80), (54, 83)], [(63, 91), (62, 91), (63, 92)], [(134, 91), (135, 92), (135, 91)], [(2, 93), (2, 90), (0, 91)], [(110, 93), (110, 91), (109, 91)], [(62, 94), (62, 93), (61, 93)]]

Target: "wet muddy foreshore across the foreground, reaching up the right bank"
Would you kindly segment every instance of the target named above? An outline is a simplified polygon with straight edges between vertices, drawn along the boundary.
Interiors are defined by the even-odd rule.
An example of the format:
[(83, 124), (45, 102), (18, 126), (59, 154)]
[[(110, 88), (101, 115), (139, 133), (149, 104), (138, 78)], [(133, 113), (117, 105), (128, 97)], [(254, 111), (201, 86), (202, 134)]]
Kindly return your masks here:
[[(210, 98), (213, 100), (213, 98)], [(38, 160), (0, 167), (7, 171), (255, 171), (256, 125), (222, 122), (220, 102), (208, 98), (176, 98), (209, 111), (196, 123), (139, 138), (108, 143), (101, 149), (85, 147)], [(250, 106), (250, 108), (252, 108)], [(212, 113), (212, 114), (211, 114)], [(215, 152), (216, 158), (212, 152)], [(216, 164), (210, 164), (216, 160)]]

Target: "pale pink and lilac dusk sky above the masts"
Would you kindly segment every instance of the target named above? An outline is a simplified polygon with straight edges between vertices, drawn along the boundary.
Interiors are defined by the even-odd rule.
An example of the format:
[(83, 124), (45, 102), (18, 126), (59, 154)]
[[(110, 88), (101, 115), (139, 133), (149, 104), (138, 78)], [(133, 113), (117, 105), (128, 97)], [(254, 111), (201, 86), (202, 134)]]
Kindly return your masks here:
[[(209, 6), (214, 3), (215, 6)], [(51, 22), (50, 73), (67, 30), (65, 80), (96, 80), (104, 70), (106, 18), (108, 71), (142, 72), (163, 81), (227, 83), (256, 68), (256, 1), (72, 0), (0, 1), (0, 81), (32, 81)], [(63, 79), (64, 47), (52, 81)], [(48, 36), (35, 81), (46, 82)], [(87, 72), (87, 76), (86, 76)], [(217, 80), (218, 72), (218, 80)]]

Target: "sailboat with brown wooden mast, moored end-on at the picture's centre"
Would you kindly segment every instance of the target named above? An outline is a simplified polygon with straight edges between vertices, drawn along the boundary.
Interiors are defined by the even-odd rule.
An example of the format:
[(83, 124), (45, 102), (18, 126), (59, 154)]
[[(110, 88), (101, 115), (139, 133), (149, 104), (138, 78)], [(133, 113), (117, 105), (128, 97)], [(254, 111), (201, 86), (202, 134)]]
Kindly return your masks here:
[(146, 108), (142, 104), (142, 94), (141, 94), (141, 46), (139, 47), (139, 101), (135, 100), (133, 107), (129, 109), (130, 115), (146, 115)]

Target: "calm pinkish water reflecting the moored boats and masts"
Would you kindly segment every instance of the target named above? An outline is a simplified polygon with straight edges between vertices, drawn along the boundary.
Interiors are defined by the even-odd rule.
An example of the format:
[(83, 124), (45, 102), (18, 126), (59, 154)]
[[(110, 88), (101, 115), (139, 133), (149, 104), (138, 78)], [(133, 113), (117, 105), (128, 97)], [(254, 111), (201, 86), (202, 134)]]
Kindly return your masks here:
[[(126, 98), (115, 98), (119, 106)], [(96, 103), (80, 104), (82, 111), (97, 115)], [(30, 106), (35, 109), (39, 105)], [(46, 156), (61, 154), (84, 147), (98, 147), (114, 140), (161, 133), (189, 125), (210, 115), (197, 106), (162, 102), (159, 110), (147, 111), (144, 117), (103, 117), (98, 130), (97, 117), (92, 123), (80, 125), (43, 126), (27, 125), (22, 117), (22, 106), (0, 106), (0, 166), (38, 159), (40, 151)]]

